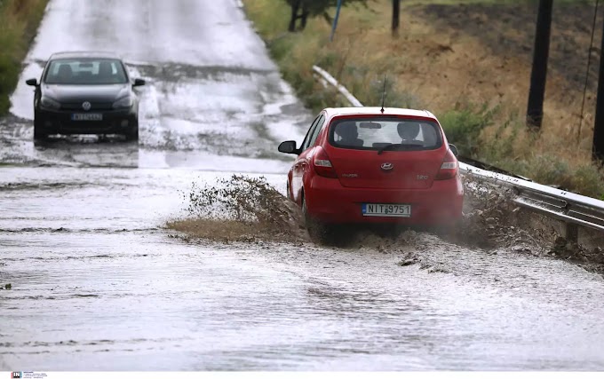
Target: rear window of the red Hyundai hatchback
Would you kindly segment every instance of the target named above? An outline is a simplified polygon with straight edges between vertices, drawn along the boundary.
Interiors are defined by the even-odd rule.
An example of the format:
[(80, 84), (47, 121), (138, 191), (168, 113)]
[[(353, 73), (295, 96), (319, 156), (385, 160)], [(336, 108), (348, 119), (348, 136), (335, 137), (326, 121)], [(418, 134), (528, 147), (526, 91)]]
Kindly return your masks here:
[(330, 144), (358, 150), (433, 150), (442, 146), (436, 122), (409, 118), (342, 119), (330, 125)]

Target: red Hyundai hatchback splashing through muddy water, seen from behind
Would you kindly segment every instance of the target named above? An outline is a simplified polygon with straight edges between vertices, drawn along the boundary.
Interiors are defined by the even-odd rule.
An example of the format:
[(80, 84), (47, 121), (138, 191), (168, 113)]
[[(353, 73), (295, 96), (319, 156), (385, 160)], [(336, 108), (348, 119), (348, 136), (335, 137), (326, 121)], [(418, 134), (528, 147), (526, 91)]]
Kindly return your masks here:
[(464, 188), (457, 148), (434, 114), (379, 107), (323, 109), (296, 154), (288, 197), (303, 210), (314, 240), (331, 225), (454, 225)]

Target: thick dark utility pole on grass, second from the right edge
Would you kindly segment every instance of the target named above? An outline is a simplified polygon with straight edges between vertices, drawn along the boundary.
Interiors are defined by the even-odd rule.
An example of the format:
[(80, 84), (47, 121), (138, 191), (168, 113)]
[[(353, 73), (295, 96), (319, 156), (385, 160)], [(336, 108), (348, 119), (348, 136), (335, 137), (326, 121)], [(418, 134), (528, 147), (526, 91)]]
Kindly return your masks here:
[(536, 18), (533, 69), (530, 74), (527, 107), (527, 124), (536, 128), (541, 127), (544, 118), (545, 79), (552, 29), (552, 2), (552, 0), (539, 0), (539, 11)]

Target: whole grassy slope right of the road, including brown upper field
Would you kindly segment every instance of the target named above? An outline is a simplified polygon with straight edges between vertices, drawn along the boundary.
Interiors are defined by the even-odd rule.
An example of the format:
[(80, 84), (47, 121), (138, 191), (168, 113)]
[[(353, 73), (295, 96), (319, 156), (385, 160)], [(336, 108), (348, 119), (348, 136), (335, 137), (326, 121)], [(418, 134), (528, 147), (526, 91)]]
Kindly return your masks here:
[[(565, 66), (565, 52), (556, 50), (564, 43), (577, 49), (583, 45), (584, 30), (574, 26), (585, 23), (590, 4), (556, 5), (559, 13), (570, 11), (552, 32), (544, 126), (534, 132), (524, 125), (535, 32), (534, 20), (527, 20), (533, 19), (534, 2), (402, 2), (401, 30), (395, 38), (390, 32), (392, 4), (376, 0), (370, 2), (370, 10), (345, 7), (331, 43), (330, 25), (321, 18), (309, 20), (303, 32), (289, 34), (285, 2), (243, 3), (283, 77), (314, 111), (346, 105), (314, 79), (314, 64), (336, 76), (366, 106), (379, 104), (386, 74), (386, 106), (430, 109), (448, 135), (457, 134), (449, 139), (462, 145), (461, 154), (546, 185), (604, 196), (604, 176), (591, 156), (593, 89), (579, 133), (577, 109), (583, 87), (576, 83), (577, 75), (569, 73), (584, 73), (584, 67)], [(454, 22), (449, 13), (455, 15)], [(491, 26), (499, 15), (503, 19), (497, 28)], [(462, 129), (468, 128), (464, 122), (470, 119), (477, 123), (468, 139)]]

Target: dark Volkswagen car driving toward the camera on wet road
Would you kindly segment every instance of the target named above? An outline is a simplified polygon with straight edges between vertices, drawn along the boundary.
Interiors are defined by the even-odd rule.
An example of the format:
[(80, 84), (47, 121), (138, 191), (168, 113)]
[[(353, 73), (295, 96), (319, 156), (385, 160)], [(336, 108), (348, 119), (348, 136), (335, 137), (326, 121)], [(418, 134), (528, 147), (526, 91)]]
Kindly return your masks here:
[(107, 52), (59, 52), (48, 59), (34, 97), (34, 138), (122, 134), (139, 138), (139, 98), (123, 60)]

